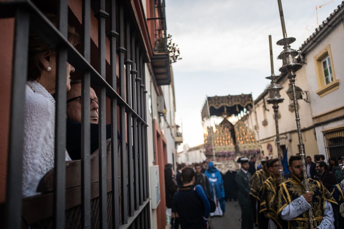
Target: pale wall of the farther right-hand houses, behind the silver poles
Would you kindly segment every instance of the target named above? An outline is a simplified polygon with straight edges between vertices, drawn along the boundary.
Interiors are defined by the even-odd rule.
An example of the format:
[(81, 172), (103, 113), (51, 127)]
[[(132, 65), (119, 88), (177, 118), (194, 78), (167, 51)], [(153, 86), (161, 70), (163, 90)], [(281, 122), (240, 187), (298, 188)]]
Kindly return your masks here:
[[(295, 85), (300, 87), (304, 91), (308, 91), (308, 81), (305, 77), (305, 68), (301, 68), (297, 72), (297, 77), (295, 78)], [(269, 83), (269, 81), (267, 80)], [(299, 140), (298, 135), (295, 132), (297, 130), (296, 122), (295, 122), (295, 113), (294, 111), (289, 111), (288, 105), (292, 103), (292, 100), (289, 99), (287, 95), (287, 90), (289, 89), (289, 79), (284, 78), (283, 80), (279, 81), (279, 84), (283, 87), (280, 91), (281, 97), (284, 98), (282, 103), (279, 103), (279, 113), (280, 118), (278, 119), (279, 125), (279, 133), (280, 133), (280, 142), (281, 145), (284, 145), (288, 148), (288, 156), (295, 155), (295, 153), (299, 153)], [(257, 120), (259, 126), (259, 139), (262, 146), (262, 150), (264, 151), (265, 156), (268, 156), (267, 145), (270, 143), (272, 145), (272, 155), (273, 157), (277, 157), (277, 144), (276, 144), (276, 127), (275, 127), (275, 119), (274, 119), (274, 112), (272, 108), (272, 104), (268, 104), (266, 99), (268, 99), (269, 94), (267, 93), (264, 98), (260, 99), (256, 107), (257, 113)], [(265, 101), (266, 108), (269, 110), (265, 110), (264, 103)], [(304, 100), (298, 100), (299, 104), (299, 115), (300, 115), (300, 124), (303, 136), (303, 144), (305, 148), (305, 152), (307, 155), (313, 156), (314, 154), (318, 154), (318, 148), (316, 147), (316, 138), (313, 133), (313, 129), (310, 129), (313, 126), (312, 115), (311, 115), (311, 106), (310, 103), (305, 102)], [(253, 115), (252, 115), (253, 114)], [(254, 126), (256, 125), (255, 114), (252, 112), (249, 114), (246, 120), (246, 125), (250, 130), (254, 130)], [(250, 116), (252, 115), (252, 117)], [(266, 119), (268, 124), (266, 126), (262, 125), (262, 121)], [(253, 124), (252, 124), (253, 123)], [(307, 129), (307, 130), (306, 130)], [(255, 133), (256, 140), (257, 132)], [(283, 152), (282, 152), (283, 153)]]

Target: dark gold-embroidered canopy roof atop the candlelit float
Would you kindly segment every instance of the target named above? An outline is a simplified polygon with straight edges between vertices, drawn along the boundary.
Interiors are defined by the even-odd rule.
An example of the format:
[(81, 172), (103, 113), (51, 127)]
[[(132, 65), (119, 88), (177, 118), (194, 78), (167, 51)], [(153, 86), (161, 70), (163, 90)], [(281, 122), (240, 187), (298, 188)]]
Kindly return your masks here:
[(251, 94), (207, 97), (207, 101), (202, 109), (202, 119), (207, 118), (209, 115), (237, 115), (241, 111), (244, 111), (244, 108), (247, 108), (249, 104), (252, 104)]

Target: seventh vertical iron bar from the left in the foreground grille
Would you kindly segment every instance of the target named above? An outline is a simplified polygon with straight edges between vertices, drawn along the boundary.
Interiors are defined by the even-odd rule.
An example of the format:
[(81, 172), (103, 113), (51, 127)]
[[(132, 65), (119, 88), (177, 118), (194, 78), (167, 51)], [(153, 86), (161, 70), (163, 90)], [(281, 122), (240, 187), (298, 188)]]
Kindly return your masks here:
[[(129, 13), (127, 15), (130, 15)], [(126, 18), (126, 89), (127, 89), (127, 103), (131, 106), (131, 75), (130, 67), (132, 61), (130, 60), (130, 18)], [(128, 188), (129, 188), (129, 216), (134, 216), (134, 168), (133, 168), (133, 153), (132, 153), (132, 114), (127, 113), (127, 139), (128, 139)]]

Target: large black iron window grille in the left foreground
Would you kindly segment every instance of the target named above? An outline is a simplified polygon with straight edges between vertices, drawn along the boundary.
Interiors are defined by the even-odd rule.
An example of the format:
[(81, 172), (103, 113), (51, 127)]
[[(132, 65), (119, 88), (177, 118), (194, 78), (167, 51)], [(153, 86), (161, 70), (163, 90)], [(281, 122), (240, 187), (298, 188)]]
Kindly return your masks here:
[[(82, 1), (82, 49), (79, 53), (66, 39), (68, 1), (57, 1), (57, 28), (29, 0), (0, 2), (0, 18), (14, 18), (14, 51), (7, 163), (4, 228), (150, 228), (147, 156), (147, 91), (145, 62), (130, 1), (98, 0), (98, 71), (90, 64), (91, 2)], [(94, 4), (94, 2), (92, 3)], [(106, 11), (108, 10), (108, 12)], [(85, 13), (86, 12), (86, 13)], [(109, 18), (109, 19), (107, 19)], [(106, 31), (106, 20), (109, 30)], [(19, 168), (22, 167), (24, 91), (29, 29), (56, 50), (55, 167), (51, 193), (22, 199)], [(43, 32), (44, 31), (44, 32)], [(106, 36), (110, 41), (110, 79), (106, 81)], [(118, 58), (119, 85), (116, 64)], [(66, 182), (66, 62), (82, 73), (82, 153), (79, 185)], [(99, 155), (92, 164), (90, 152), (90, 83), (98, 87)], [(119, 87), (119, 93), (117, 93)], [(106, 139), (106, 98), (110, 100), (111, 139), (117, 139), (119, 110), (120, 142)], [(119, 145), (118, 145), (119, 144)], [(111, 147), (110, 156), (107, 150)], [(120, 148), (119, 151), (117, 149)], [(117, 154), (117, 152), (120, 152)], [(120, 161), (118, 161), (120, 160)], [(68, 164), (68, 163), (67, 163)], [(94, 169), (96, 168), (96, 170)], [(92, 171), (92, 172), (91, 172)], [(99, 174), (94, 178), (93, 174)], [(72, 180), (76, 177), (73, 177)], [(93, 182), (96, 179), (97, 182)], [(119, 181), (119, 182), (118, 182)], [(93, 182), (93, 183), (91, 183)], [(66, 189), (67, 187), (67, 189)], [(69, 188), (68, 188), (69, 187)], [(117, 201), (119, 200), (119, 201)], [(34, 209), (45, 206), (43, 216)], [(28, 214), (23, 216), (23, 214)], [(35, 215), (36, 214), (36, 215)], [(41, 218), (40, 218), (41, 217)]]

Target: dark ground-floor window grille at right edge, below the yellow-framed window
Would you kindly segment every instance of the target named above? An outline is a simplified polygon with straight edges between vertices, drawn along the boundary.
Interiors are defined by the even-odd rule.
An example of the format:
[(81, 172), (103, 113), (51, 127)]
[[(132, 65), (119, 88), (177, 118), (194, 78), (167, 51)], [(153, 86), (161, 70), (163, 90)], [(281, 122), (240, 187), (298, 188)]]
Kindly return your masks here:
[(344, 129), (324, 133), (324, 138), (329, 157), (344, 156)]

